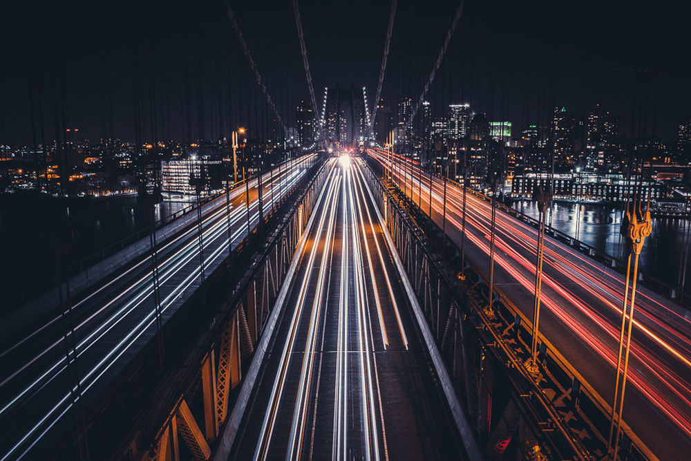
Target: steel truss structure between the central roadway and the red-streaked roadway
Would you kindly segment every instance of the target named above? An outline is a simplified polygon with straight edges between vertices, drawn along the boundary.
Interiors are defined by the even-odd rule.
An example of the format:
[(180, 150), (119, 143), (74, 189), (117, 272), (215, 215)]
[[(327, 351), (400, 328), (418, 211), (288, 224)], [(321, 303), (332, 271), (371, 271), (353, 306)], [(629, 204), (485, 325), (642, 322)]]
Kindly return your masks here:
[[(607, 440), (598, 429), (609, 428), (607, 402), (542, 335), (540, 379), (530, 375), (524, 363), (531, 353), (531, 319), (502, 290), (489, 296), (488, 278), (480, 267), (467, 260), (466, 267), (460, 267), (460, 258), (433, 253), (433, 248), (447, 252), (441, 245), (446, 242), (459, 254), (397, 185), (385, 187), (374, 171), (366, 171), (446, 366), (458, 383), (457, 393), (465, 396), (466, 410), (475, 417), (486, 455), (504, 456), (513, 439), (520, 441), (522, 458), (535, 459), (536, 451), (549, 459), (601, 458)], [(490, 299), (492, 308), (487, 309)], [(528, 435), (522, 432), (525, 426)], [(626, 424), (623, 429), (621, 459), (654, 459)]]

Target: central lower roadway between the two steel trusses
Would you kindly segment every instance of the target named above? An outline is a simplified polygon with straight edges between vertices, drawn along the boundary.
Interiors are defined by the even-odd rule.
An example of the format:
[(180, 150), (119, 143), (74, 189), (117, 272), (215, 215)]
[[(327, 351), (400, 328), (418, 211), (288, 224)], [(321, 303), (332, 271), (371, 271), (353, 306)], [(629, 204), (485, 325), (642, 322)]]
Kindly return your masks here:
[(356, 162), (314, 213), (229, 458), (463, 459)]

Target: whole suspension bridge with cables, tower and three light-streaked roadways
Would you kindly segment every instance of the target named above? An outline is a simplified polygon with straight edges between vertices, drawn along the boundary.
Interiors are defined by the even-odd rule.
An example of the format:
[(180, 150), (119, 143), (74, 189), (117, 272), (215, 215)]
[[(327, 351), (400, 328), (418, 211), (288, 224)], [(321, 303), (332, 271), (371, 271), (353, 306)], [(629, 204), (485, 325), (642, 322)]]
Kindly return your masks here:
[(645, 190), (626, 261), (449, 179), (430, 142), (377, 141), (397, 1), (374, 100), (317, 99), (292, 11), (312, 132), (225, 3), (281, 158), (267, 142), (240, 180), (235, 131), (219, 191), (3, 314), (1, 459), (683, 459), (691, 315), (638, 273)]

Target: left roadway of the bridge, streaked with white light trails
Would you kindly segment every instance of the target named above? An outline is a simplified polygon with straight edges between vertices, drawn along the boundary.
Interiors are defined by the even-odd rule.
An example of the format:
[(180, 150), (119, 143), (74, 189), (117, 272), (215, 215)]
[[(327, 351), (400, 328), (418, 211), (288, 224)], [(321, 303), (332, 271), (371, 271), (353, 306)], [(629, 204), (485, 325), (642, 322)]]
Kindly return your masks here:
[[(303, 156), (263, 176), (265, 214), (290, 191), (307, 172), (312, 156)], [(245, 185), (215, 200), (217, 206), (202, 221), (205, 274), (220, 265), (231, 247), (247, 235)], [(228, 212), (229, 210), (229, 212)], [(259, 220), (256, 182), (249, 189), (250, 227)], [(160, 242), (158, 279), (163, 322), (167, 321), (200, 286), (201, 258), (198, 227)], [(68, 347), (66, 324), (59, 314), (15, 344), (0, 352), (0, 459), (32, 458), (32, 448), (42, 440), (52, 446), (66, 431), (74, 429), (73, 397), (85, 408), (95, 401), (124, 366), (155, 335), (155, 296), (151, 258), (139, 258), (113, 274), (97, 289), (73, 299), (73, 328), (68, 335), (70, 370), (66, 366)], [(55, 313), (54, 313), (55, 315)], [(70, 377), (71, 373), (71, 377)], [(77, 378), (79, 386), (76, 386)], [(75, 395), (70, 395), (74, 386)], [(36, 444), (36, 445), (35, 445)], [(43, 448), (43, 449), (44, 449)], [(41, 449), (42, 450), (42, 449)]]

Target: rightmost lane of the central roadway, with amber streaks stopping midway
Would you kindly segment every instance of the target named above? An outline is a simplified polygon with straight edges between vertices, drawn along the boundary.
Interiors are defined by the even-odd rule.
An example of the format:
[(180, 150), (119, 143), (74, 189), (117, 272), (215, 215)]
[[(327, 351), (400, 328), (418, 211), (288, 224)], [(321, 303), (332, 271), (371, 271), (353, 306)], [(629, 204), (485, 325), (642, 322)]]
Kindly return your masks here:
[[(367, 187), (363, 180), (360, 185)], [(374, 273), (370, 276), (378, 288), (389, 339), (386, 350), (377, 348), (375, 352), (379, 382), (383, 383), (381, 404), (384, 408), (388, 456), (392, 460), (462, 459), (465, 454), (460, 437), (449, 414), (448, 404), (436, 385), (433, 366), (423, 346), (410, 300), (401, 287), (384, 229), (375, 218), (376, 205), (365, 190), (361, 196), (365, 198), (363, 202), (368, 211), (365, 213), (368, 230), (366, 243), (370, 254), (378, 254), (378, 243), (383, 256), (372, 258)], [(389, 275), (393, 297), (388, 294), (384, 274)], [(371, 285), (368, 286), (368, 295), (372, 306), (375, 304), (375, 293)], [(397, 317), (400, 318), (407, 341), (399, 331)], [(371, 323), (376, 330), (377, 319), (374, 316)]]

